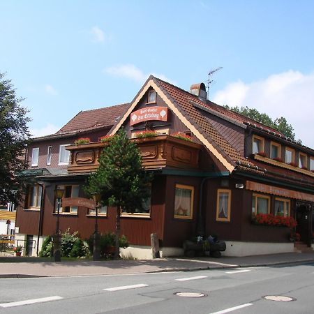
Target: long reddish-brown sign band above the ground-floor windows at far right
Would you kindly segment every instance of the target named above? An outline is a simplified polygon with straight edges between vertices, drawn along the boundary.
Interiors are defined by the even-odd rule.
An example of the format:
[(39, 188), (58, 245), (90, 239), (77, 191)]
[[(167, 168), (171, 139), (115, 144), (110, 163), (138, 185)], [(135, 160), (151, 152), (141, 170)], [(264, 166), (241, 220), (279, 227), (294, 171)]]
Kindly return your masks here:
[(246, 181), (246, 190), (256, 190), (257, 192), (274, 194), (281, 197), (314, 202), (314, 195), (297, 192), (296, 190), (287, 190), (286, 188), (277, 188), (276, 186), (269, 186), (267, 184), (259, 184), (253, 181)]

